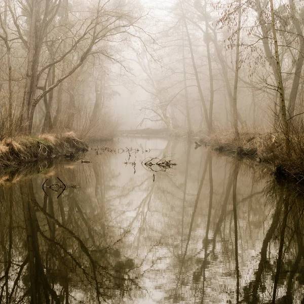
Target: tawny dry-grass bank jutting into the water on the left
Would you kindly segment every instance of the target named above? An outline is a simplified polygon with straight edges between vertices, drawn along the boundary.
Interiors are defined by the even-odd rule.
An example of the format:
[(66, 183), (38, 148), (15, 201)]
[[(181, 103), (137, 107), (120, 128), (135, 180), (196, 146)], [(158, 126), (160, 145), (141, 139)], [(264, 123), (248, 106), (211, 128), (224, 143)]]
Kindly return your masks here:
[(87, 144), (71, 132), (5, 138), (0, 142), (0, 170), (57, 157), (74, 157), (87, 150)]

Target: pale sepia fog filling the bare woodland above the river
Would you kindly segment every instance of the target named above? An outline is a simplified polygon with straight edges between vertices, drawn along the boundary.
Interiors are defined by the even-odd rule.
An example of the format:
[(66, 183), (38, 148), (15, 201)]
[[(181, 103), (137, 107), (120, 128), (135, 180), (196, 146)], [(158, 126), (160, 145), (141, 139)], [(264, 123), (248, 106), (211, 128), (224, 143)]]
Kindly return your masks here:
[(2, 136), (301, 120), (300, 2), (1, 2)]

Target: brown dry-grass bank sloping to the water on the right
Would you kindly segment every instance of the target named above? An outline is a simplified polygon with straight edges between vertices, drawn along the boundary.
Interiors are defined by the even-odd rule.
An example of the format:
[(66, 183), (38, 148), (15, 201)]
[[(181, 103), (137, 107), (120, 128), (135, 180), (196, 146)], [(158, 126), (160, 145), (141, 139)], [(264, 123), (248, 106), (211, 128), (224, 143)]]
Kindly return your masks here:
[(276, 178), (304, 181), (304, 144), (298, 136), (290, 138), (289, 153), (282, 133), (241, 133), (238, 140), (233, 133), (218, 133), (200, 136), (198, 143), (225, 155), (270, 164)]

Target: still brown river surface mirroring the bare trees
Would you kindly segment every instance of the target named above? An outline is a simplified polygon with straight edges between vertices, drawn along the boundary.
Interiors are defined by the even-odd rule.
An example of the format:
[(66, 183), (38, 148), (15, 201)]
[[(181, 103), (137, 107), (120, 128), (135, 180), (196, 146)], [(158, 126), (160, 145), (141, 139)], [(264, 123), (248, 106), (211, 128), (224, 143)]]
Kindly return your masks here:
[(304, 303), (299, 186), (181, 139), (104, 144), (1, 177), (0, 303)]

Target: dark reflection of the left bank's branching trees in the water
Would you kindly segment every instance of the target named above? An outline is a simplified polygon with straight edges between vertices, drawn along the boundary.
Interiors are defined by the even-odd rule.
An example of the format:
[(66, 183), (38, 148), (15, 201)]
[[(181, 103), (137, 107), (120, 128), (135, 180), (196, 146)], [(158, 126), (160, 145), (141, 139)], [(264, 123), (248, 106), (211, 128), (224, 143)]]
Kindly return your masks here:
[(1, 187), (0, 303), (100, 303), (137, 288), (133, 259), (106, 246), (105, 227), (92, 224), (83, 198), (46, 192), (36, 196), (31, 178)]

